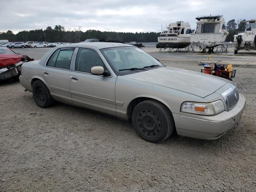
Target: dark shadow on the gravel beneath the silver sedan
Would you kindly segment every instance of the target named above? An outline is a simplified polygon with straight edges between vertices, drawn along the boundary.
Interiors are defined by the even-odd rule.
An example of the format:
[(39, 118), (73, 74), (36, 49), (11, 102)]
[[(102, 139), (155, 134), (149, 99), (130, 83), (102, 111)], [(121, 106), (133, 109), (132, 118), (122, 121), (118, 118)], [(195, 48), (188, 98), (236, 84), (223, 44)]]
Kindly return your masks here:
[[(62, 104), (57, 103), (52, 108), (67, 108), (67, 110), (70, 112), (72, 111), (72, 114), (74, 116), (86, 116), (87, 118), (92, 118), (92, 122), (97, 122), (99, 119), (102, 120), (101, 124), (108, 124), (111, 125), (112, 128), (116, 129), (115, 132), (124, 132), (129, 134), (132, 134), (130, 136), (134, 137), (134, 142), (141, 142), (142, 138), (138, 136), (136, 131), (133, 128), (131, 121), (122, 120), (120, 118), (116, 118), (115, 116), (110, 116), (108, 114), (95, 112), (93, 110), (85, 109), (85, 108), (79, 108), (76, 106), (71, 106), (68, 104)], [(110, 127), (111, 127), (110, 126)], [(125, 140), (125, 134), (120, 134), (119, 136), (124, 137), (122, 140)], [(218, 138), (217, 140), (202, 140), (202, 139), (196, 139), (196, 138), (189, 138), (189, 137), (183, 137), (179, 136), (176, 132), (176, 130), (173, 131), (172, 135), (165, 141), (158, 143), (158, 146), (187, 146), (189, 148), (199, 149), (204, 148), (205, 150), (209, 149), (212, 150), (212, 148), (216, 148), (216, 150), (221, 150), (221, 146), (223, 144), (226, 144), (227, 142), (231, 142), (232, 144), (237, 142), (237, 139), (235, 139), (235, 142), (233, 142), (233, 139), (236, 135), (234, 135), (234, 131), (230, 131), (221, 138)], [(229, 143), (230, 145), (230, 143)]]

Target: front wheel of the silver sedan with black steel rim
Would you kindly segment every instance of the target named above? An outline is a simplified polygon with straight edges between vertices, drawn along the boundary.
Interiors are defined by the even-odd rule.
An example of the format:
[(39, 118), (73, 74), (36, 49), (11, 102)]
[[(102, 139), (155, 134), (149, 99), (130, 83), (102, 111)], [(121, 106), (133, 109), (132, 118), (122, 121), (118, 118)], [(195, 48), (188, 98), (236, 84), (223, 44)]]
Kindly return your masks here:
[(132, 124), (142, 139), (153, 143), (166, 140), (174, 130), (170, 110), (154, 100), (145, 100), (135, 106)]

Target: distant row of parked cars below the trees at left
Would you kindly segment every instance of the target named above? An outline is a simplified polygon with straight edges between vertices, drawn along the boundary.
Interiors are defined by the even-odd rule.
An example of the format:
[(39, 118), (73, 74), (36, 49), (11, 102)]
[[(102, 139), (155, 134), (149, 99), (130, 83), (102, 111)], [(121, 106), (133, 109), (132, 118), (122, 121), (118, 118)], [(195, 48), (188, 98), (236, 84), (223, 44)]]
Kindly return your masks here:
[(27, 41), (27, 42), (2, 42), (1, 46), (6, 46), (8, 48), (46, 48), (46, 47), (58, 47), (61, 45), (66, 45), (71, 43), (48, 43), (48, 42), (37, 42), (37, 41)]

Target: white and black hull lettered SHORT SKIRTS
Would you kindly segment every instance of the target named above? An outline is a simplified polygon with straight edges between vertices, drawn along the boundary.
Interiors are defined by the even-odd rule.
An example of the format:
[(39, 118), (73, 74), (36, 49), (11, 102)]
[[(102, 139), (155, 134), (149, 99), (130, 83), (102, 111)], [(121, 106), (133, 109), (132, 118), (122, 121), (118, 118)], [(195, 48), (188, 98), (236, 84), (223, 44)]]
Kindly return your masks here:
[(158, 37), (158, 44), (161, 48), (186, 48), (190, 45), (190, 36)]

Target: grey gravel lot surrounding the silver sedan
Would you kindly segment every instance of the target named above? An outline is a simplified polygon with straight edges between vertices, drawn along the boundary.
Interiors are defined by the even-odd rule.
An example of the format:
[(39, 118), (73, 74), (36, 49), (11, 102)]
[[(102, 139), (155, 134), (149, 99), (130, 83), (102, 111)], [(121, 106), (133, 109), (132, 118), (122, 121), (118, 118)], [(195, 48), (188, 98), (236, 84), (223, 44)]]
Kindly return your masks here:
[[(35, 59), (47, 50), (15, 49)], [(195, 71), (208, 57), (150, 54)], [(256, 191), (256, 67), (234, 68), (246, 109), (240, 124), (214, 141), (174, 133), (152, 144), (139, 138), (130, 122), (61, 103), (39, 108), (18, 81), (0, 82), (0, 192)]]

